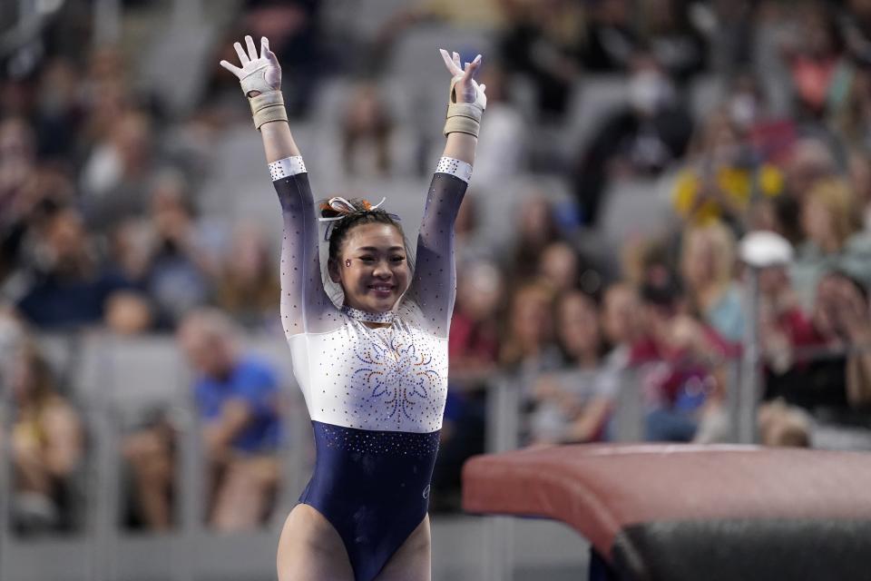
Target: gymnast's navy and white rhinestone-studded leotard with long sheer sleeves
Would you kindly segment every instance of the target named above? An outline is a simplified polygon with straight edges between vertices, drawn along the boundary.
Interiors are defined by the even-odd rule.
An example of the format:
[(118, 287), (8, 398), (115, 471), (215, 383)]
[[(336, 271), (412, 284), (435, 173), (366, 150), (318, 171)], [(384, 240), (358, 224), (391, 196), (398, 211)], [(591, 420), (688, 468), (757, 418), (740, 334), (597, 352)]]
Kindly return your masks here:
[(370, 581), (426, 517), (447, 395), (454, 309), (454, 222), (471, 175), (439, 161), (411, 285), (369, 328), (369, 313), (329, 300), (318, 222), (300, 157), (269, 163), (284, 217), (281, 320), (315, 434), (315, 472), (299, 501), (336, 528), (357, 581)]

